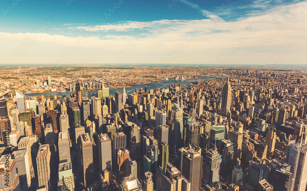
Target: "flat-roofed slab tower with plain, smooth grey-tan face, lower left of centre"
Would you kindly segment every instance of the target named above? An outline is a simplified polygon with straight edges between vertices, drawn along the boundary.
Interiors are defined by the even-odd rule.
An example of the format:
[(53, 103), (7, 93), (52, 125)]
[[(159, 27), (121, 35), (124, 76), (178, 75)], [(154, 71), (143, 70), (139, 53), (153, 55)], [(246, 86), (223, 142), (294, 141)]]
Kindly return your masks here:
[(112, 168), (111, 139), (107, 134), (98, 135), (99, 171)]

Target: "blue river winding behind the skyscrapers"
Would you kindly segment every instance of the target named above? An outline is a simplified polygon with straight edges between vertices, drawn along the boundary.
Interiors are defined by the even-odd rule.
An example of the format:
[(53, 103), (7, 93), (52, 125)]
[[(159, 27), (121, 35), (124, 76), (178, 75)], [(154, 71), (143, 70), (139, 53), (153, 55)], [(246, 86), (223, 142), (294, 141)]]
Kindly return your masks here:
[[(221, 76), (221, 78), (226, 78), (227, 76)], [(140, 84), (140, 85), (129, 85), (131, 86), (130, 88), (126, 88), (126, 93), (127, 95), (132, 93), (134, 91), (134, 89), (140, 89), (143, 88), (143, 90), (145, 90), (145, 86), (148, 87), (148, 91), (150, 89), (154, 89), (154, 88), (160, 88), (160, 89), (164, 89), (164, 88), (168, 88), (171, 84), (181, 84), (182, 88), (188, 88), (188, 85), (190, 82), (192, 82), (193, 80), (195, 81), (205, 81), (205, 80), (213, 80), (215, 78), (211, 78), (211, 77), (206, 77), (206, 78), (196, 78), (196, 79), (184, 79), (184, 80), (162, 80), (162, 81), (155, 81), (155, 82), (151, 82), (149, 84)], [(89, 98), (91, 98), (92, 96), (97, 97), (97, 91), (98, 90), (89, 90), (87, 91), (87, 96)], [(122, 92), (122, 88), (117, 88), (117, 89), (110, 89), (109, 90), (109, 94), (110, 95), (115, 95), (115, 92), (119, 91)], [(66, 92), (63, 93), (58, 93), (58, 92), (51, 92), (51, 93), (37, 93), (37, 94), (25, 94), (26, 97), (31, 97), (31, 96), (48, 96), (48, 95), (56, 95), (58, 98), (57, 99), (62, 99), (63, 96), (66, 95), (70, 95), (70, 92), (68, 90), (66, 90)], [(85, 91), (82, 91), (82, 96), (85, 96)]]

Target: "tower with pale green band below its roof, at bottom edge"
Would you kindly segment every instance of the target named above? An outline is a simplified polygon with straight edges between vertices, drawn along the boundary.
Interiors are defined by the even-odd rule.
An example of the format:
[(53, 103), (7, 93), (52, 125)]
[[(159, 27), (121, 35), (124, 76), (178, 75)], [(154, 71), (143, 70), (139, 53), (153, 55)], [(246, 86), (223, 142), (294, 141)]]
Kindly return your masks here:
[(72, 162), (63, 162), (59, 164), (58, 191), (74, 191), (75, 181), (72, 173)]

